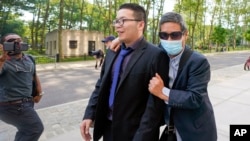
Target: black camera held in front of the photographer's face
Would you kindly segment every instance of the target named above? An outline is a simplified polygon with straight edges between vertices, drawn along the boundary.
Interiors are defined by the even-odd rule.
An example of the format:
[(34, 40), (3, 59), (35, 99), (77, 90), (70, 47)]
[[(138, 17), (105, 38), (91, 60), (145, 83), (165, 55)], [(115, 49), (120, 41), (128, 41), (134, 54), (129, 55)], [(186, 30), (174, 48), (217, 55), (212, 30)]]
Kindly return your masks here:
[(29, 46), (27, 43), (20, 42), (4, 42), (3, 50), (4, 51), (27, 51)]

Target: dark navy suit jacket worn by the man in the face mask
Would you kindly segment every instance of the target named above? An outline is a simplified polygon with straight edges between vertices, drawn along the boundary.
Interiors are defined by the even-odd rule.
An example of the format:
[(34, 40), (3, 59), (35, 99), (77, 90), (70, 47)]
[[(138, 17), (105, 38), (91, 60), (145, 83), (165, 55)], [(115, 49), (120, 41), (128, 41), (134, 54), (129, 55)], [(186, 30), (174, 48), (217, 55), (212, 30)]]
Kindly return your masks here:
[(185, 47), (167, 105), (173, 110), (174, 124), (182, 141), (217, 140), (214, 111), (207, 92), (209, 80), (207, 59)]

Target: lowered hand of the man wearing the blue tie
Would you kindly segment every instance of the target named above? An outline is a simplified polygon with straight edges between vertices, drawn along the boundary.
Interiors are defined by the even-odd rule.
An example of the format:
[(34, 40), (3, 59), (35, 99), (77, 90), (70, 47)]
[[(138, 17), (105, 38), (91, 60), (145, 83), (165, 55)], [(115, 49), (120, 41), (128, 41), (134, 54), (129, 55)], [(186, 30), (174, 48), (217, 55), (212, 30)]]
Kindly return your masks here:
[(85, 141), (90, 141), (92, 139), (91, 134), (89, 133), (89, 128), (93, 121), (91, 119), (85, 119), (80, 123), (80, 130), (82, 138)]

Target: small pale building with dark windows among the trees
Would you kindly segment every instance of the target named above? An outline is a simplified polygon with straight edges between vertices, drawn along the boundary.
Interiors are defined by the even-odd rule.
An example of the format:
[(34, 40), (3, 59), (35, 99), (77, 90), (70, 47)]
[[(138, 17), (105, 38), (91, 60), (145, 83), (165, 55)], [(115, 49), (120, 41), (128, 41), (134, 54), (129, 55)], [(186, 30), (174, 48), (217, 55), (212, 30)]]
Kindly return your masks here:
[[(104, 35), (98, 31), (62, 30), (63, 56), (84, 56), (94, 50), (104, 50), (102, 39), (104, 39)], [(47, 55), (58, 54), (58, 30), (47, 33), (45, 43)]]

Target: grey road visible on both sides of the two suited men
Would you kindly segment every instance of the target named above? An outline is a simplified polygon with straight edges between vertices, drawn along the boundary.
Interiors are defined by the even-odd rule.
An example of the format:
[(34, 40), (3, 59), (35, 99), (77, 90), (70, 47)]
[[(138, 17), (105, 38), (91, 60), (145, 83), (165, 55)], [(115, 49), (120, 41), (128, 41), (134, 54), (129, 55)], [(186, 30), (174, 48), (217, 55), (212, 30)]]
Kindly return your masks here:
[[(242, 64), (250, 52), (207, 54), (211, 70)], [(89, 98), (94, 89), (100, 70), (94, 69), (94, 62), (87, 67), (40, 71), (45, 95), (36, 109), (59, 105), (79, 99)], [(88, 80), (88, 81), (86, 81)]]

